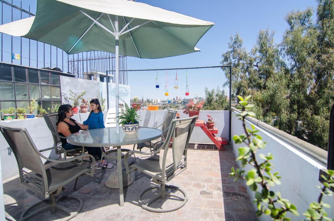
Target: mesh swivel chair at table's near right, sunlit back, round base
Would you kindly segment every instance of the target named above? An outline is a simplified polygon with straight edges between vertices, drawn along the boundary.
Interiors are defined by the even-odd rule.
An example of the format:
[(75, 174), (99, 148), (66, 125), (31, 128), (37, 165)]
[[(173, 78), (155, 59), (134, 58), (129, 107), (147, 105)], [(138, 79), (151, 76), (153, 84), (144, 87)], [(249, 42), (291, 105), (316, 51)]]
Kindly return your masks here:
[[(190, 139), (190, 135), (194, 129), (197, 117), (198, 116), (172, 120), (165, 142), (158, 150), (154, 151), (153, 153), (145, 153), (139, 151), (129, 151), (128, 153), (126, 153), (124, 162), (127, 173), (138, 169), (143, 173), (151, 176), (153, 178), (153, 182), (158, 184), (157, 186), (149, 187), (140, 193), (139, 204), (142, 206), (143, 209), (152, 212), (170, 212), (177, 210), (186, 204), (188, 200), (187, 194), (180, 188), (166, 185), (166, 183), (187, 168), (188, 142)], [(171, 138), (173, 138), (171, 148), (173, 156), (172, 160), (167, 158), (167, 152), (169, 149), (168, 146)], [(161, 150), (164, 150), (163, 154), (159, 154)], [(143, 155), (154, 155), (129, 166), (127, 158), (134, 153)], [(146, 204), (144, 204), (142, 202), (142, 196), (152, 189), (157, 189), (158, 195), (150, 199)], [(171, 191), (180, 191), (183, 196), (172, 194)], [(176, 198), (178, 201), (182, 201), (182, 203), (176, 207), (169, 209), (150, 207), (150, 204), (152, 204), (159, 198), (164, 199), (166, 196), (169, 196), (169, 199), (172, 199), (171, 197)]]

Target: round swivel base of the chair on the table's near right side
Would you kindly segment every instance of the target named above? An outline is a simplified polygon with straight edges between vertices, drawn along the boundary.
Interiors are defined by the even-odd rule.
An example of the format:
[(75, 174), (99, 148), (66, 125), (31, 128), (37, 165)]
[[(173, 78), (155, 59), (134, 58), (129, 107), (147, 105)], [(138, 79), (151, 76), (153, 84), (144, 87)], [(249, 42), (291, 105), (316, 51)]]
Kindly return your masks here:
[[(186, 192), (176, 186), (172, 186), (172, 185), (165, 185), (165, 188), (166, 190), (167, 189), (171, 189), (171, 190), (177, 190), (177, 191), (180, 191), (184, 197), (181, 197), (181, 196), (177, 196), (175, 194), (171, 194), (171, 192), (168, 192), (167, 191), (161, 191), (159, 192), (159, 194), (157, 196), (155, 196), (154, 198), (150, 199), (146, 204), (143, 204), (142, 202), (142, 196), (147, 192), (147, 191), (150, 191), (150, 190), (153, 190), (153, 189), (160, 189), (159, 186), (155, 186), (155, 187), (149, 187), (147, 189), (145, 189), (143, 192), (140, 193), (139, 195), (139, 204), (141, 205), (141, 207), (145, 210), (148, 210), (148, 211), (151, 211), (151, 212), (156, 212), (156, 213), (165, 213), (165, 212), (171, 212), (171, 211), (175, 211), (175, 210), (178, 210), (180, 209), (182, 206), (184, 206), (187, 201), (188, 201), (188, 196), (186, 194)], [(181, 204), (179, 204), (178, 206), (176, 207), (173, 207), (173, 208), (169, 208), (169, 209), (158, 209), (158, 208), (152, 208), (150, 207), (150, 204), (152, 204), (153, 202), (157, 201), (158, 199), (161, 198), (162, 194), (164, 194), (165, 196), (169, 196), (169, 197), (174, 197), (174, 198), (177, 198), (178, 200), (182, 201)], [(172, 200), (172, 199), (171, 199)]]

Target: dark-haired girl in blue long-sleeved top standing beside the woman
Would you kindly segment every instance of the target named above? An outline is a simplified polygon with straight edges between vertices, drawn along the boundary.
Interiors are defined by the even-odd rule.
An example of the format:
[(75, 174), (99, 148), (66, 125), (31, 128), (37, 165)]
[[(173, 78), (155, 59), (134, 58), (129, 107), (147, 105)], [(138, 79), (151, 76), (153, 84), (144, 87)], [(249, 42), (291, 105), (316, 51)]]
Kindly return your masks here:
[[(100, 101), (97, 98), (93, 98), (90, 102), (91, 113), (89, 114), (86, 121), (84, 121), (83, 125), (88, 125), (88, 130), (98, 129), (98, 128), (105, 128), (103, 123), (103, 113), (100, 105)], [(87, 127), (87, 126), (86, 126)], [(101, 149), (95, 148), (95, 153), (92, 153), (93, 156), (101, 156)], [(97, 163), (99, 166), (96, 168), (100, 170), (104, 167), (112, 168), (114, 165), (109, 163), (107, 160), (102, 159), (101, 164)]]

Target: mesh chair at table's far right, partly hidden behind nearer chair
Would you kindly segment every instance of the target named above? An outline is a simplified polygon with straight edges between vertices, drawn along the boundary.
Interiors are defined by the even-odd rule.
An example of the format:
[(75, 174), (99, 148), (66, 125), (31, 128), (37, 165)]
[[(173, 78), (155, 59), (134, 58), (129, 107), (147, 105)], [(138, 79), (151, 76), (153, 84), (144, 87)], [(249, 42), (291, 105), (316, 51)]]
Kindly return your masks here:
[[(150, 148), (150, 152), (152, 152), (152, 148), (155, 145), (156, 145), (155, 146), (156, 148), (160, 148), (161, 145), (163, 144), (164, 140), (167, 137), (167, 133), (168, 133), (170, 123), (175, 118), (175, 115), (176, 115), (176, 111), (174, 111), (172, 109), (169, 109), (167, 114), (166, 114), (166, 117), (165, 117), (164, 121), (162, 122), (162, 124), (155, 127), (155, 128), (160, 128), (161, 127), (162, 136), (161, 136), (160, 141), (155, 142), (155, 143), (153, 143), (152, 141), (148, 141), (148, 142), (145, 142), (145, 143), (137, 144), (137, 149), (139, 149), (139, 151), (142, 151), (142, 148), (148, 147), (148, 148)], [(136, 147), (136, 144), (133, 145), (133, 150), (135, 150), (135, 147)], [(153, 149), (153, 151), (154, 151), (154, 149)]]

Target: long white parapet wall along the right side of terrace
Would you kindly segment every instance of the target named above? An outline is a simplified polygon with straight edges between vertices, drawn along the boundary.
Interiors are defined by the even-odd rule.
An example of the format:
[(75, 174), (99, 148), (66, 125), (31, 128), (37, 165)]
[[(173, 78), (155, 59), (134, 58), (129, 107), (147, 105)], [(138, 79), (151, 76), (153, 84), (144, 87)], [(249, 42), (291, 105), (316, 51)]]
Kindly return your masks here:
[[(232, 135), (244, 134), (241, 121), (238, 120), (238, 117), (233, 117), (233, 114), (236, 113), (232, 112)], [(251, 128), (251, 124), (246, 122), (246, 127)], [(318, 200), (320, 190), (316, 186), (320, 186), (320, 182), (318, 181), (319, 170), (325, 169), (326, 165), (314, 161), (298, 149), (283, 142), (269, 132), (257, 126), (256, 128), (260, 130), (258, 135), (263, 138), (263, 141), (267, 142), (267, 147), (259, 150), (257, 156), (260, 153), (265, 155), (272, 153), (274, 156), (272, 163), (275, 166), (273, 171), (280, 172), (280, 176), (282, 176), (282, 184), (275, 185), (270, 189), (275, 192), (281, 192), (283, 198), (289, 199), (291, 203), (296, 205), (300, 216), (289, 216), (292, 220), (302, 220), (304, 217), (302, 214), (307, 211), (309, 204)], [(235, 157), (238, 157), (238, 148), (245, 145), (232, 143), (234, 155)], [(259, 157), (258, 159), (261, 162)], [(238, 165), (241, 167), (239, 162)], [(246, 166), (244, 170), (248, 171), (251, 168), (253, 167)], [(252, 200), (254, 200), (255, 193), (249, 190), (249, 188), (248, 192), (250, 193)], [(328, 211), (328, 213), (329, 217), (334, 217), (334, 198), (324, 197), (323, 200), (332, 206), (332, 209)], [(262, 215), (259, 220), (269, 221), (271, 218)]]

